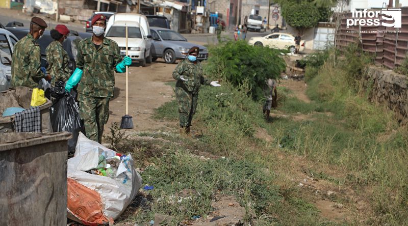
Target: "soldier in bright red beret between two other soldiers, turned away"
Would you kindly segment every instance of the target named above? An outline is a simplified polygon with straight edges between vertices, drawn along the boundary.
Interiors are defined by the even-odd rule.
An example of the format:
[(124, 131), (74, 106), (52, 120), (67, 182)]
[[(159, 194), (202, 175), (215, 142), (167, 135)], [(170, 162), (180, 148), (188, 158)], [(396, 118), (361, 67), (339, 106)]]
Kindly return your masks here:
[(58, 24), (55, 29), (50, 31), (54, 39), (45, 49), (48, 62), (48, 72), (52, 77), (51, 84), (60, 80), (66, 82), (72, 71), (68, 68), (69, 57), (67, 51), (62, 47), (62, 43), (67, 39), (69, 30), (65, 25)]

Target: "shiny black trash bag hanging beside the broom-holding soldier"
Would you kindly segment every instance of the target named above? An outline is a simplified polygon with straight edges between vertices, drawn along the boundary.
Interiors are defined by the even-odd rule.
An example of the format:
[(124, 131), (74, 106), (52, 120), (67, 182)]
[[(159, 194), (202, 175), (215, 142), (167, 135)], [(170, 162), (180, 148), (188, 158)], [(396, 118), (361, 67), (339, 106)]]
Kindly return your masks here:
[(80, 108), (73, 96), (65, 93), (62, 98), (54, 101), (50, 115), (54, 132), (72, 133), (72, 138), (68, 140), (68, 154), (74, 153), (79, 133), (85, 133), (85, 128), (80, 118)]

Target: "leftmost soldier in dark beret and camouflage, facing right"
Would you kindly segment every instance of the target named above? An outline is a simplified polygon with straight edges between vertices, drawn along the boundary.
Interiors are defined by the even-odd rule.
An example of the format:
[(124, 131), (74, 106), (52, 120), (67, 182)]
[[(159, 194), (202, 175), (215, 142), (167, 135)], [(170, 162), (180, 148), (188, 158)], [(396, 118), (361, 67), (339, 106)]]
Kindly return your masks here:
[(44, 34), (47, 23), (33, 17), (30, 22), (30, 32), (14, 45), (11, 65), (11, 86), (38, 88), (42, 78), (50, 81), (50, 75), (44, 75), (45, 68), (41, 68), (40, 45), (35, 41)]

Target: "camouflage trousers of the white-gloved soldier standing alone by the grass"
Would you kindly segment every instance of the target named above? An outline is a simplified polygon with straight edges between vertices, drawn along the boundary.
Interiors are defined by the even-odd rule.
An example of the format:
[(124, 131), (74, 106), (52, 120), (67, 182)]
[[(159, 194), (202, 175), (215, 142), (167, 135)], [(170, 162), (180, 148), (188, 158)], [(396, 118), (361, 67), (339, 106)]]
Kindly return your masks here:
[(197, 108), (198, 94), (185, 91), (183, 88), (175, 88), (175, 97), (179, 103), (180, 127), (191, 126), (193, 115)]

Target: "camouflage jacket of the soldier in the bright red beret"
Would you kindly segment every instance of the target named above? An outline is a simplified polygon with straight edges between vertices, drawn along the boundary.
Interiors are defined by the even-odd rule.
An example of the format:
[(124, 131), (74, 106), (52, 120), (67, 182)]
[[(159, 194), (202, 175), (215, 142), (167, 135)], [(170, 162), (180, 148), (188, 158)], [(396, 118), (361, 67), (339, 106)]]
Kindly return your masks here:
[(51, 80), (53, 86), (58, 80), (67, 81), (72, 72), (68, 69), (68, 53), (62, 47), (61, 42), (54, 41), (50, 43), (45, 52), (48, 62), (47, 72), (53, 78)]

